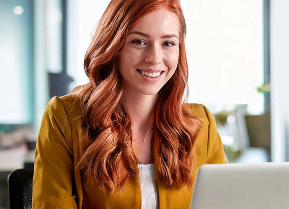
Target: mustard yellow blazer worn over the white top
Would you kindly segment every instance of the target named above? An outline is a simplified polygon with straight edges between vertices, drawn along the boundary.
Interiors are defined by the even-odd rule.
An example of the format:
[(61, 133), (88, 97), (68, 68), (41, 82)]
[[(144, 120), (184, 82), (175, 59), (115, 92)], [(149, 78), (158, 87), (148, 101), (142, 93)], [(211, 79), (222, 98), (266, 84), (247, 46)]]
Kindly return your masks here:
[[(204, 125), (194, 144), (195, 181), (203, 164), (226, 163), (226, 155), (212, 114), (202, 104), (188, 104)], [(139, 179), (131, 180), (124, 192), (111, 194), (82, 182), (76, 168), (80, 159), (78, 140), (83, 118), (80, 104), (69, 94), (53, 97), (46, 106), (35, 152), (33, 209), (141, 209)], [(157, 179), (159, 209), (188, 209), (192, 189), (167, 188)]]

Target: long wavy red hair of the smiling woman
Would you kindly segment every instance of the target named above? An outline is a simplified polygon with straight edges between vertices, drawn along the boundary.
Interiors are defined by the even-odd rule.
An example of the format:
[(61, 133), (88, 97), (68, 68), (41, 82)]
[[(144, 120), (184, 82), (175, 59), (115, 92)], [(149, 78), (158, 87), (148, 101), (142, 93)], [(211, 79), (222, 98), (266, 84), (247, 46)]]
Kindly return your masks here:
[(100, 189), (115, 191), (124, 188), (129, 179), (138, 177), (131, 120), (122, 104), (118, 56), (134, 24), (161, 8), (179, 17), (181, 29), (177, 69), (158, 93), (153, 113), (156, 176), (168, 187), (192, 186), (192, 148), (202, 121), (183, 104), (188, 67), (186, 23), (180, 3), (178, 0), (111, 0), (85, 54), (84, 69), (90, 82), (73, 90), (84, 119), (79, 166), (84, 180), (92, 180)]

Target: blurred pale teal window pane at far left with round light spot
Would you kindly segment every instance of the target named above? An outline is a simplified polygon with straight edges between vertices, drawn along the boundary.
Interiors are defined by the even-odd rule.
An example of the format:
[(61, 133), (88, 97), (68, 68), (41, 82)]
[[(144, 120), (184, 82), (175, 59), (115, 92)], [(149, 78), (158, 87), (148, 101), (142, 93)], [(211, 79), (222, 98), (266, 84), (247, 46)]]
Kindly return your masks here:
[(0, 124), (33, 122), (32, 1), (0, 1)]

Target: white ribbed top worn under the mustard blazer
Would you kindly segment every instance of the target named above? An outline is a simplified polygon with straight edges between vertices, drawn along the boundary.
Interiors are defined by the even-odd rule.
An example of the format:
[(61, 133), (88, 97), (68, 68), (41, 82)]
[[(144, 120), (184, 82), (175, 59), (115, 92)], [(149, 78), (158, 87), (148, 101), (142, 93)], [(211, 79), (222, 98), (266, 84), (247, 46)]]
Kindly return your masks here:
[(155, 165), (138, 164), (142, 189), (142, 209), (158, 209)]

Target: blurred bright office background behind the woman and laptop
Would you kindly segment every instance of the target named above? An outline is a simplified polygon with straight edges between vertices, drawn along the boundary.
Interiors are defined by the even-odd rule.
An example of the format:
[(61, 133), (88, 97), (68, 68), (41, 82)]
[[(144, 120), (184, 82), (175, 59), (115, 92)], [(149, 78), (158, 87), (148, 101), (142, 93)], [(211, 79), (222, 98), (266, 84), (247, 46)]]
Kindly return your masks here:
[[(7, 175), (33, 167), (44, 108), (88, 79), (109, 0), (0, 0), (0, 209)], [(289, 160), (289, 1), (181, 0), (189, 103), (214, 114), (230, 163)], [(286, 93), (287, 92), (287, 93)]]

